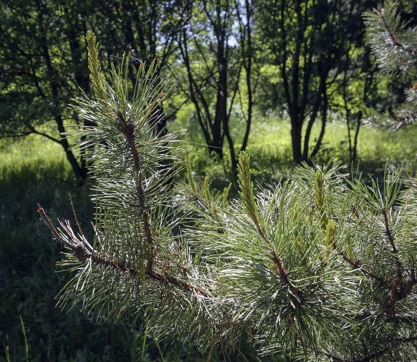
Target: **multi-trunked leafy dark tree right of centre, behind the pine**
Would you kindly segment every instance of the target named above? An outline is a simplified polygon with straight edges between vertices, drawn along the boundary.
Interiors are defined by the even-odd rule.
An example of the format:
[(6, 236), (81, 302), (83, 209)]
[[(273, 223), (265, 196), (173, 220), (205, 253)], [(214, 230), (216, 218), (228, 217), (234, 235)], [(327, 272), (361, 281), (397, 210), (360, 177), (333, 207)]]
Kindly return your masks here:
[[(329, 88), (346, 68), (349, 52), (362, 45), (361, 13), (369, 3), (339, 0), (273, 0), (259, 12), (264, 49), (279, 69), (280, 99), (291, 120), (296, 163), (319, 151), (327, 123)], [(322, 126), (315, 144), (311, 129)], [(307, 121), (308, 120), (308, 121)]]

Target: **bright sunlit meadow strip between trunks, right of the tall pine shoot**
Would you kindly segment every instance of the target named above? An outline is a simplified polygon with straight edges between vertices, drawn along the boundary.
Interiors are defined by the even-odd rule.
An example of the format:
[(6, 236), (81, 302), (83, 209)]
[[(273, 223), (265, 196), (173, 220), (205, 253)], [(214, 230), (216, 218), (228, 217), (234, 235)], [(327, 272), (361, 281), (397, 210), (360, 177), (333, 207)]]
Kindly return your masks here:
[[(260, 183), (276, 182), (280, 177), (291, 175), (295, 164), (292, 162), (291, 124), (288, 115), (279, 112), (269, 114), (254, 114), (254, 123), (251, 127), (247, 152), (251, 155), (253, 175)], [(197, 175), (205, 175), (218, 188), (226, 186), (233, 181), (230, 173), (230, 156), (228, 143), (224, 143), (224, 161), (213, 160), (204, 145), (198, 123), (192, 117), (183, 121), (176, 121), (170, 125), (173, 129), (188, 128), (184, 138), (186, 144), (193, 145), (190, 153), (193, 169)], [(310, 151), (319, 136), (321, 123), (318, 121), (311, 131)], [(353, 147), (354, 129), (351, 130)], [(241, 147), (244, 134), (244, 124), (239, 122), (231, 127), (234, 137), (236, 153)], [(304, 132), (303, 132), (304, 134)], [(390, 166), (399, 166), (404, 159), (414, 160), (417, 157), (417, 127), (400, 128), (395, 132), (388, 132), (377, 127), (361, 125), (359, 129), (357, 157), (359, 158), (359, 171), (365, 174), (381, 176), (389, 159)], [(327, 163), (333, 158), (335, 162), (351, 165), (349, 156), (349, 141), (346, 121), (338, 114), (329, 115), (322, 147), (316, 155), (319, 163)], [(357, 162), (354, 162), (354, 169)]]

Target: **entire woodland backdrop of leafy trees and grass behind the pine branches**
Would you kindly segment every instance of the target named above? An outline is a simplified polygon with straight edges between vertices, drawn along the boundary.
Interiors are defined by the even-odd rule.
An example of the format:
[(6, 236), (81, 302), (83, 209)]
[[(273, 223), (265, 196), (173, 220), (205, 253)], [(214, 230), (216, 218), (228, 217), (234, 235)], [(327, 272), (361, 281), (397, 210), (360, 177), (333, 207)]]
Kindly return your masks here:
[[(416, 25), (414, 2), (398, 5)], [(54, 308), (60, 246), (36, 209), (41, 202), (53, 219), (70, 219), (71, 193), (79, 218), (92, 219), (88, 165), (70, 149), (75, 140), (60, 136), (65, 124), (85, 122), (67, 105), (79, 88), (89, 90), (88, 29), (98, 36), (104, 72), (125, 51), (134, 57), (133, 76), (156, 59), (172, 87), (157, 110), (166, 112), (160, 129), (188, 129), (193, 171), (213, 187), (236, 183), (240, 150), (251, 155), (259, 183), (286, 178), (311, 157), (353, 162), (355, 170), (360, 159), (360, 171), (380, 177), (386, 158), (389, 167), (416, 158), (417, 130), (363, 125), (373, 110), (394, 114), (413, 80), (378, 69), (362, 18), (377, 7), (357, 0), (3, 2), (0, 360), (206, 359), (181, 341), (149, 339), (140, 323), (131, 332)]]

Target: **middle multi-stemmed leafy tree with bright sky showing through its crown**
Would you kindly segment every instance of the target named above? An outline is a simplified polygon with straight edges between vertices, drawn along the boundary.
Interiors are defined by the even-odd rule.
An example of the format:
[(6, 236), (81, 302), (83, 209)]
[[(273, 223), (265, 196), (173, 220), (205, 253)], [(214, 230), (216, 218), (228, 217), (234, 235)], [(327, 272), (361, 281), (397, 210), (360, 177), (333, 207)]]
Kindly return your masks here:
[[(186, 76), (173, 74), (193, 102), (196, 118), (210, 152), (223, 158), (224, 140), (236, 169), (235, 144), (246, 148), (254, 104), (254, 49), (252, 1), (214, 0), (194, 3), (178, 33), (178, 49)], [(244, 70), (244, 71), (243, 71)], [(230, 133), (231, 112), (241, 97), (241, 76), (246, 76), (248, 106), (243, 140)], [(242, 102), (241, 102), (242, 104)], [(239, 142), (240, 141), (240, 142)]]

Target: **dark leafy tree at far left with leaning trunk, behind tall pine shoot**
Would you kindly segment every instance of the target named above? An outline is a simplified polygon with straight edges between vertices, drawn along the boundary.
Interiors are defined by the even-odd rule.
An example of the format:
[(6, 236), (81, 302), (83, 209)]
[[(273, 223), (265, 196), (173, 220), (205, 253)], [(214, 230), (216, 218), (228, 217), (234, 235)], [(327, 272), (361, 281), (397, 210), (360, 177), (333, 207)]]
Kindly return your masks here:
[[(0, 136), (43, 135), (62, 145), (75, 175), (85, 178), (83, 150), (79, 153), (71, 149), (65, 123), (89, 124), (68, 110), (77, 89), (88, 92), (90, 84), (86, 71), (87, 29), (95, 29), (106, 46), (106, 54), (100, 59), (106, 68), (115, 56), (131, 51), (136, 57), (136, 62), (131, 62), (133, 74), (141, 62), (151, 64), (153, 59), (159, 73), (173, 54), (173, 38), (186, 4), (118, 0), (2, 2)], [(48, 121), (54, 126), (45, 130), (42, 125)], [(158, 118), (156, 132), (163, 132), (165, 125), (165, 118)]]

